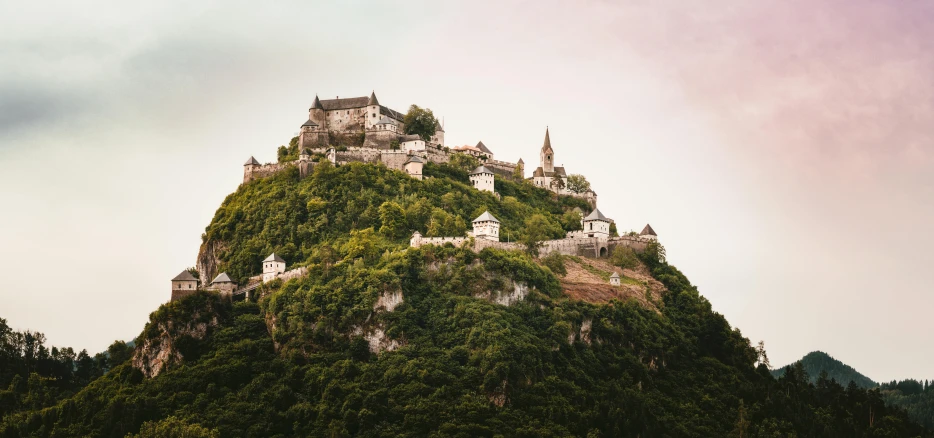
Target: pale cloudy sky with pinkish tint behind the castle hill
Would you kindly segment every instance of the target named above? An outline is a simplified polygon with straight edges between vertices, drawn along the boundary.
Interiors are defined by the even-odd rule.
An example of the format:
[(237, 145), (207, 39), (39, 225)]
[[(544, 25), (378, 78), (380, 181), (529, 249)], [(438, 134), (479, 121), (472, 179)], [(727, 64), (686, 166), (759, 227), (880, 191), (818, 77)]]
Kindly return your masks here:
[(932, 22), (924, 0), (3, 2), (0, 317), (132, 339), (243, 162), (316, 94), (375, 90), (528, 167), (548, 126), (773, 365), (934, 378)]

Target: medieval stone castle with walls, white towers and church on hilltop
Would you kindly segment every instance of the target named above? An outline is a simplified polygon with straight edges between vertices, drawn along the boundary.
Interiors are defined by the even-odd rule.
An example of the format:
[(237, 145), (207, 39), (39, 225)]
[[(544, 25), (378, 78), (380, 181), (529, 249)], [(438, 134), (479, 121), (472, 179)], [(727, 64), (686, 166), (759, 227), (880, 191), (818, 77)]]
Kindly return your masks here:
[[(315, 96), (308, 110), (308, 120), (300, 127), (298, 146), (301, 151), (298, 160), (285, 163), (260, 164), (250, 157), (243, 167), (243, 184), (271, 176), (290, 166), (299, 170), (304, 178), (311, 174), (317, 164), (312, 154), (323, 155), (332, 165), (349, 162), (380, 163), (390, 169), (406, 173), (415, 179), (422, 179), (425, 163), (446, 163), (452, 154), (467, 154), (476, 157), (481, 165), (469, 173), (471, 185), (480, 191), (496, 193), (497, 177), (525, 179), (524, 162), (520, 158), (516, 163), (494, 159), (493, 151), (482, 141), (476, 146), (460, 146), (453, 150), (444, 146), (444, 127), (435, 124), (435, 132), (426, 141), (417, 135), (406, 135), (405, 116), (389, 107), (383, 106), (371, 92), (369, 97), (321, 100)], [(344, 146), (348, 136), (361, 143), (360, 146)], [(360, 141), (362, 139), (362, 142)], [(597, 208), (597, 194), (593, 190), (577, 193), (568, 187), (568, 174), (563, 166), (555, 166), (555, 151), (551, 145), (549, 128), (545, 128), (545, 141), (539, 151), (539, 167), (532, 172), (528, 180), (535, 186), (550, 190), (559, 195), (575, 196), (586, 199), (593, 210), (581, 218), (581, 230), (568, 232), (563, 239), (539, 242), (539, 254), (547, 255), (558, 252), (566, 255), (588, 257), (606, 257), (617, 246), (630, 247), (636, 251), (644, 250), (649, 243), (657, 239), (655, 230), (646, 225), (640, 234), (630, 233), (624, 236), (611, 235), (613, 220), (607, 218)], [(498, 195), (497, 195), (498, 196)], [(499, 240), (500, 222), (490, 212), (485, 212), (472, 221), (473, 230), (466, 236), (423, 237), (415, 232), (410, 239), (410, 246), (470, 245), (480, 251), (493, 247), (506, 250), (523, 249), (515, 242)], [(262, 262), (262, 274), (251, 277), (243, 287), (226, 274), (219, 274), (205, 290), (217, 291), (223, 295), (247, 294), (259, 285), (274, 279), (287, 280), (304, 275), (305, 268), (286, 271), (286, 263), (275, 253)], [(615, 281), (615, 283), (613, 283)], [(619, 279), (611, 279), (618, 284)], [(172, 300), (190, 295), (202, 289), (200, 281), (190, 272), (183, 271), (172, 279)]]

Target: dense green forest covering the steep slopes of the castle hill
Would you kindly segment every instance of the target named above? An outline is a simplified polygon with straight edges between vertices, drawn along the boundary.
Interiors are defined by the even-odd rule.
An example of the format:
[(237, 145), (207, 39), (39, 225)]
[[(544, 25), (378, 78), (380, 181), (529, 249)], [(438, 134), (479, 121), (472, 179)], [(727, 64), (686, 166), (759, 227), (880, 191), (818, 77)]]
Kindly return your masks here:
[(275, 251), (308, 275), (252, 301), (167, 303), (134, 352), (113, 347), (80, 378), (50, 371), (69, 368), (60, 352), (40, 369), (6, 329), (0, 436), (934, 436), (879, 390), (812, 382), (800, 363), (774, 378), (660, 245), (611, 258), (664, 285), (647, 304), (569, 299), (531, 247), (409, 248), (413, 231), (463, 234), (485, 210), (519, 241), (579, 226), (580, 200), (500, 178), (501, 197), (478, 192), (473, 164), (418, 181), (320, 163), (241, 186), (203, 236), (218, 269), (242, 282)]

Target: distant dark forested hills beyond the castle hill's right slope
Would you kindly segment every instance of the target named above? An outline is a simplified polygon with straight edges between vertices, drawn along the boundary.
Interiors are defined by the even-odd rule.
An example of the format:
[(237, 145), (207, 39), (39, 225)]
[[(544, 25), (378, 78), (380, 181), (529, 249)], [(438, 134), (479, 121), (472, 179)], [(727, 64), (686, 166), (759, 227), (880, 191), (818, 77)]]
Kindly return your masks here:
[[(823, 375), (843, 385), (853, 382), (864, 389), (878, 388), (886, 404), (904, 409), (909, 418), (934, 430), (934, 382), (908, 379), (880, 385), (822, 351), (808, 353), (798, 363), (810, 375), (811, 383)], [(781, 377), (793, 365), (775, 369), (772, 375)]]

